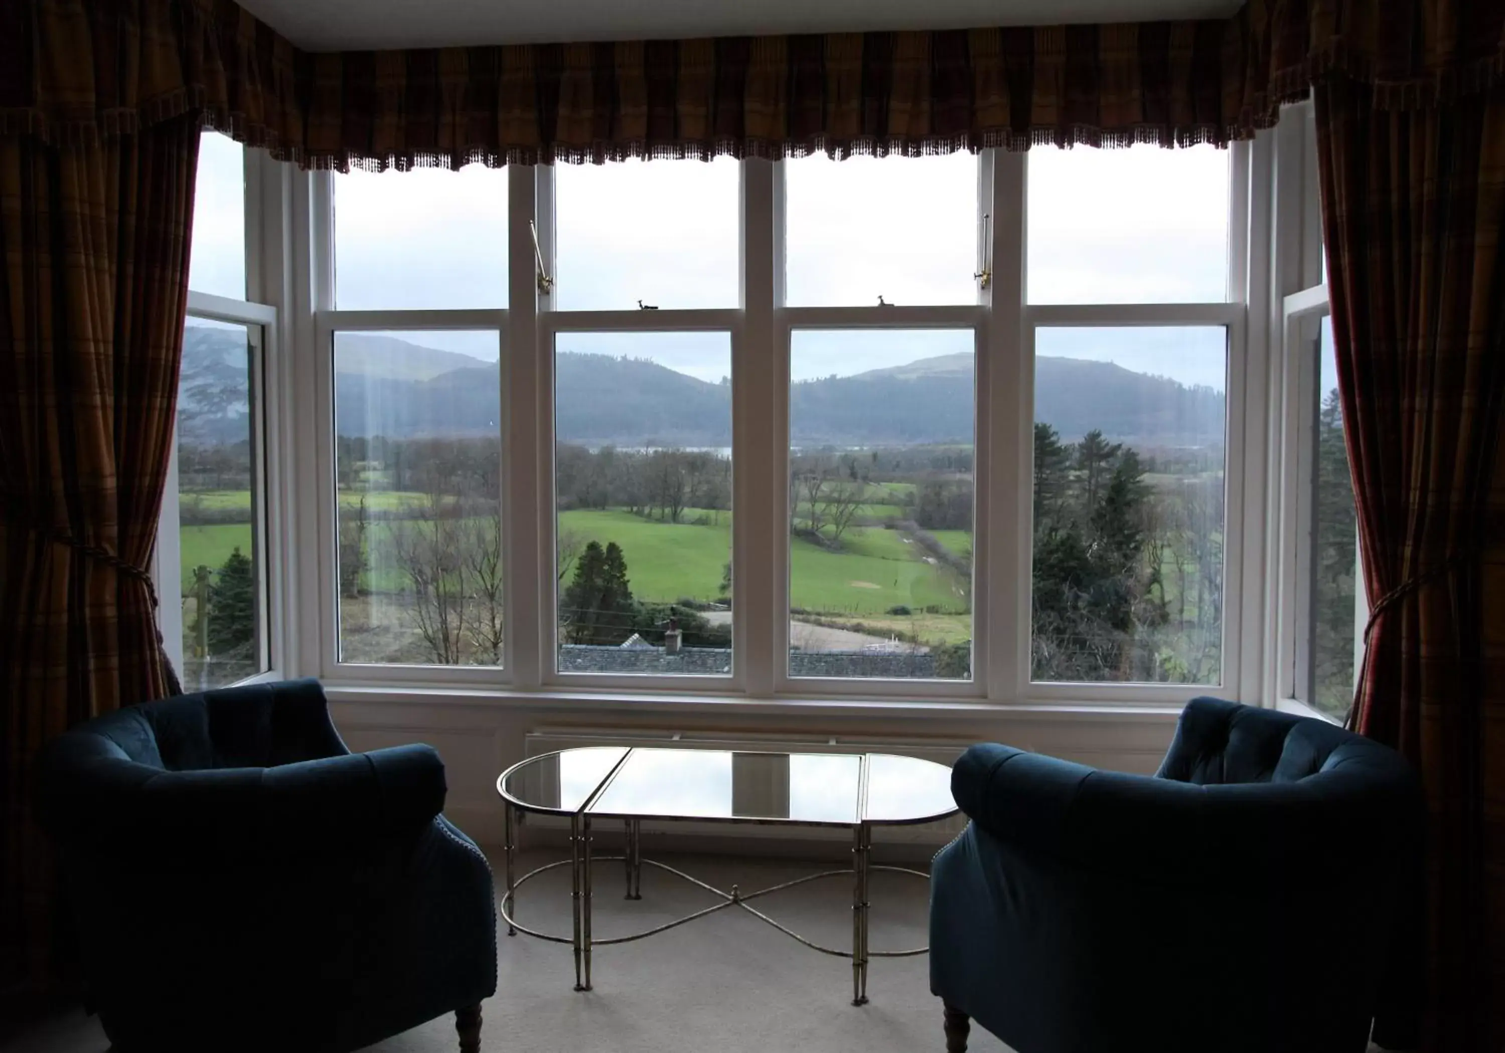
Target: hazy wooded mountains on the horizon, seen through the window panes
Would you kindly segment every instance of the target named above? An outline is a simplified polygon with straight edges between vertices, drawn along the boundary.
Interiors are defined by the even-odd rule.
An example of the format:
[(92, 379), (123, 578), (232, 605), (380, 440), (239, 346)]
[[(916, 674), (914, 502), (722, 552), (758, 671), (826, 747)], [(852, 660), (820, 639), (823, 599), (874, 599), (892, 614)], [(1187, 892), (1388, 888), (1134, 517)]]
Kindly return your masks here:
[[(244, 438), (245, 349), (238, 334), (193, 328), (184, 344), (182, 412), (196, 441)], [(336, 357), (342, 435), (494, 435), (495, 363), (396, 337), (348, 332)], [(561, 441), (619, 447), (731, 445), (731, 390), (647, 360), (561, 352), (555, 358)], [(235, 396), (235, 384), (239, 394)], [(181, 418), (184, 420), (184, 418)], [(1222, 436), (1224, 396), (1112, 363), (1035, 360), (1035, 420), (1075, 441), (1100, 429), (1139, 447), (1206, 445)], [(939, 355), (790, 390), (793, 442), (804, 447), (972, 441), (972, 357)], [(190, 430), (185, 427), (185, 435)]]

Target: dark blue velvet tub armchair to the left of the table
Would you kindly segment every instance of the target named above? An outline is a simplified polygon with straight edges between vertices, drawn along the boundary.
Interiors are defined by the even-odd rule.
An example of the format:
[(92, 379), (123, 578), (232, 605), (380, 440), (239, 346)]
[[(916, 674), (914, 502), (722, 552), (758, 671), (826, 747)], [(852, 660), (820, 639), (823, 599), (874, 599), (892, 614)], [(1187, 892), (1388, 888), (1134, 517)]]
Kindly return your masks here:
[(491, 869), (429, 746), (352, 754), (313, 680), (146, 703), (51, 745), (44, 808), (119, 1053), (348, 1053), (497, 990)]

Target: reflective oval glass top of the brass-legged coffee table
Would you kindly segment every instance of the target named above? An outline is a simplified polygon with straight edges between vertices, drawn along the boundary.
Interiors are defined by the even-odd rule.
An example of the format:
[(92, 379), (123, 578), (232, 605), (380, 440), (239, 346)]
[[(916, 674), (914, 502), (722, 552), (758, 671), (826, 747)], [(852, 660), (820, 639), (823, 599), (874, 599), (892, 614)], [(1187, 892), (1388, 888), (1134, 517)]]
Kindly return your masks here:
[(951, 769), (889, 754), (582, 746), (515, 764), (497, 788), (528, 811), (604, 818), (852, 826), (957, 811)]

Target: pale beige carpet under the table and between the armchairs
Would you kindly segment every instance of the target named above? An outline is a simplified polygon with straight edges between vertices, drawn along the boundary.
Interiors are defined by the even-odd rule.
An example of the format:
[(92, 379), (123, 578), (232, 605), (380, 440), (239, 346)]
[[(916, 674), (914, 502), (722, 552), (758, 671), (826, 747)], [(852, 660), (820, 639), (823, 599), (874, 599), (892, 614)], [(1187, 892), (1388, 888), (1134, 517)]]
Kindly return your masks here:
[[(650, 838), (644, 853), (653, 854)], [(605, 850), (614, 850), (604, 845)], [(500, 853), (491, 853), (500, 877)], [(527, 863), (542, 856), (528, 853)], [(665, 862), (719, 888), (745, 892), (822, 869), (822, 863), (707, 857)], [(521, 869), (519, 869), (521, 872)], [(596, 874), (597, 939), (650, 928), (715, 903), (715, 897), (652, 866), (643, 900), (622, 898), (620, 863)], [(873, 877), (874, 951), (926, 942), (926, 885)], [(765, 913), (828, 946), (852, 946), (852, 891), (846, 879), (814, 882), (756, 901)], [(555, 868), (519, 894), (519, 921), (569, 933), (569, 868)], [(503, 933), (506, 930), (503, 928)], [(647, 940), (594, 954), (594, 990), (575, 993), (567, 945), (500, 936), (497, 996), (483, 1006), (488, 1053), (921, 1053), (942, 1050), (941, 1003), (930, 994), (929, 960), (877, 958), (871, 1002), (853, 1008), (852, 966), (801, 946), (736, 907)], [(92, 1018), (53, 1020), (6, 1045), (11, 1053), (104, 1053)], [(439, 1053), (458, 1048), (453, 1018), (435, 1020), (370, 1047), (370, 1053)], [(972, 1050), (1005, 1050), (972, 1030)]]

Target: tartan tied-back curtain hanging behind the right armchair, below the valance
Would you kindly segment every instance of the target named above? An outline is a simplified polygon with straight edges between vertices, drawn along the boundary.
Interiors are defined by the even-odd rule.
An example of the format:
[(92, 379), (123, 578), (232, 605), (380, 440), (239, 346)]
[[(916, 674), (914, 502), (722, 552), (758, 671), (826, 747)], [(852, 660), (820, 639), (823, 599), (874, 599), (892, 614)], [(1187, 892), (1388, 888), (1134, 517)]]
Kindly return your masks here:
[[(1428, 802), (1419, 990), (1377, 1038), (1505, 1048), (1505, 87), (1314, 89), (1333, 344), (1373, 618), (1354, 724)], [(1421, 931), (1422, 925), (1416, 925)], [(1410, 925), (1397, 939), (1412, 943)], [(1419, 997), (1407, 997), (1419, 996)]]

